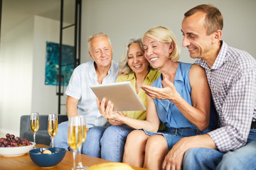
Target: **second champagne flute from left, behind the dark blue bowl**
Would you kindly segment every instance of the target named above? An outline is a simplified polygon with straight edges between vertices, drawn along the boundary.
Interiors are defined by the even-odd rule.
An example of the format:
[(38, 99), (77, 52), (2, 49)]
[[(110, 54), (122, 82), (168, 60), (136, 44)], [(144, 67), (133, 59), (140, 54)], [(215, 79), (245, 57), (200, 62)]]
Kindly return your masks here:
[(52, 147), (54, 147), (53, 139), (58, 132), (58, 116), (56, 114), (48, 115), (48, 133), (51, 136)]

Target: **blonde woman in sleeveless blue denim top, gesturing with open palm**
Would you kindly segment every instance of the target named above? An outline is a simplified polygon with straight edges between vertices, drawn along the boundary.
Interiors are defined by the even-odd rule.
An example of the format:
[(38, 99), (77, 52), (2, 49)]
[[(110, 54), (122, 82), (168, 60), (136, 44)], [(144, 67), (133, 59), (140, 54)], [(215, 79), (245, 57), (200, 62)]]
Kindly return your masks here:
[[(210, 89), (204, 70), (196, 64), (178, 62), (180, 47), (169, 28), (148, 30), (142, 39), (146, 60), (161, 75), (146, 91), (143, 130), (127, 137), (123, 162), (147, 169), (161, 169), (166, 154), (182, 137), (206, 134), (215, 129), (210, 120)], [(164, 132), (156, 132), (160, 120)], [(210, 122), (210, 123), (209, 123)], [(171, 169), (171, 167), (164, 167)]]

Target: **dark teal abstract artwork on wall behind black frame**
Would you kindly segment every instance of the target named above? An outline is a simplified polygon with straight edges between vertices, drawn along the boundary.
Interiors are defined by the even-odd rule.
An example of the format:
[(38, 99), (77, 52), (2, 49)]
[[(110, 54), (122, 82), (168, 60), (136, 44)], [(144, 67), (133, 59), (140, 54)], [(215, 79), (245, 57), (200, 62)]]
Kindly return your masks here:
[[(58, 85), (59, 71), (59, 48), (60, 45), (55, 42), (46, 42), (46, 85)], [(68, 86), (71, 74), (74, 69), (74, 46), (62, 46), (62, 72), (64, 79), (61, 83), (63, 86)]]

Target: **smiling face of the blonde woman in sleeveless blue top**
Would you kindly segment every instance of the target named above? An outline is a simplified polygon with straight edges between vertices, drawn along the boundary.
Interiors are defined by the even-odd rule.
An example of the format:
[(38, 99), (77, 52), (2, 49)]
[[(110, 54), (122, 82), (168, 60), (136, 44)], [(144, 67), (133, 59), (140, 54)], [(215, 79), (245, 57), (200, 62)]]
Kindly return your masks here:
[(164, 67), (164, 64), (170, 60), (169, 56), (174, 50), (174, 46), (171, 42), (159, 42), (147, 36), (143, 38), (143, 47), (146, 60), (148, 60), (155, 69)]

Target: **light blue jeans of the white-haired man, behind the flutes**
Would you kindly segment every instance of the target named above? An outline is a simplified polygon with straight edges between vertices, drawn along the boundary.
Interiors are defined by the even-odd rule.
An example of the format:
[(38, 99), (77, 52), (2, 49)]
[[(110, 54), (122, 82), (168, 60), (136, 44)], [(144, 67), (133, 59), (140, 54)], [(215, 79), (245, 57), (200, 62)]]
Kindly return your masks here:
[[(107, 126), (95, 126), (87, 132), (86, 140), (82, 143), (82, 154), (100, 157), (100, 139)], [(68, 145), (68, 121), (58, 125), (58, 133), (54, 137), (55, 147), (71, 150)]]

